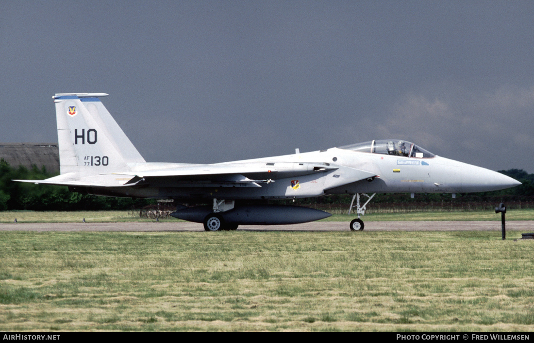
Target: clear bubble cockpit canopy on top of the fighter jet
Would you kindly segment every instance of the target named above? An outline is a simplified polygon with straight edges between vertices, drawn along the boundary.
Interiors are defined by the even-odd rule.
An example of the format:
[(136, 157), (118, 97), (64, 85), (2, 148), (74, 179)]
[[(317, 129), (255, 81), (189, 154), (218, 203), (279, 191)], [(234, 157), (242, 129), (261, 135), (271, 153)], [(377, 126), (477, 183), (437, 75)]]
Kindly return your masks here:
[(379, 141), (345, 145), (340, 146), (340, 149), (414, 158), (433, 158), (435, 156), (433, 153), (413, 143), (399, 139), (381, 139)]

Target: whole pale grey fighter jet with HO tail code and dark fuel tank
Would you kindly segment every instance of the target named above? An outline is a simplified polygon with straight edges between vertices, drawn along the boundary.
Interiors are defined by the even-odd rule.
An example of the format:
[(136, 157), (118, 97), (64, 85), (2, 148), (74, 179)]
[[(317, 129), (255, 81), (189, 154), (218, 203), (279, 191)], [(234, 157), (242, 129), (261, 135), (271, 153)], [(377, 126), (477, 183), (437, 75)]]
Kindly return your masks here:
[[(173, 199), (172, 216), (203, 223), (206, 231), (238, 225), (310, 222), (331, 214), (269, 201), (352, 194), (351, 230), (376, 193), (484, 192), (521, 184), (511, 177), (439, 157), (400, 139), (382, 139), (294, 154), (213, 164), (146, 162), (106, 110), (106, 93), (57, 93), (60, 175), (15, 180), (66, 185), (109, 197)], [(368, 195), (371, 194), (371, 195)], [(360, 197), (365, 196), (365, 203)], [(354, 201), (356, 200), (356, 205)], [(363, 202), (363, 201), (362, 201)]]

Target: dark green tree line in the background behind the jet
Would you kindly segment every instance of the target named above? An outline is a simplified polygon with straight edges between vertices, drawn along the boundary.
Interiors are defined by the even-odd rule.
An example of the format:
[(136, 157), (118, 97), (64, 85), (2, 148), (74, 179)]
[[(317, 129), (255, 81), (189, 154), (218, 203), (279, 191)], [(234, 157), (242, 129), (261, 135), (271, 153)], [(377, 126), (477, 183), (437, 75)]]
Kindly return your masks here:
[[(499, 173), (515, 178), (521, 185), (500, 191), (482, 193), (459, 193), (456, 199), (451, 194), (377, 194), (372, 202), (375, 205), (412, 206), (413, 204), (479, 204), (499, 202), (525, 202), (534, 205), (534, 174), (528, 174), (522, 169), (499, 170)], [(147, 205), (155, 205), (153, 199), (132, 199), (98, 197), (90, 194), (70, 192), (67, 186), (35, 185), (33, 183), (13, 182), (11, 180), (43, 180), (55, 176), (46, 171), (44, 166), (26, 168), (24, 166), (12, 167), (4, 159), (0, 159), (0, 211), (32, 210), (32, 211), (97, 211), (97, 210), (130, 210)], [(296, 199), (293, 201), (280, 201), (282, 203), (324, 207), (329, 205), (348, 205), (351, 194), (332, 195), (319, 198)], [(364, 200), (365, 201), (365, 200)], [(525, 206), (528, 207), (528, 206)]]

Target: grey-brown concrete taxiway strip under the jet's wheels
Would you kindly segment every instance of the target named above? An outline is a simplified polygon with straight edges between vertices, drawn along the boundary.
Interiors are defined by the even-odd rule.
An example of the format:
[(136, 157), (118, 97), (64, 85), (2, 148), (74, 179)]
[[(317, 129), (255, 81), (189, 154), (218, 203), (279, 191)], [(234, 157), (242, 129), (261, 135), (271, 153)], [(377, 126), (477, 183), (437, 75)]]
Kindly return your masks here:
[[(311, 222), (293, 225), (241, 225), (246, 231), (350, 231), (349, 222)], [(500, 231), (500, 221), (366, 222), (366, 231)], [(126, 223), (0, 223), (0, 231), (204, 231), (191, 222)], [(534, 231), (534, 221), (508, 221), (506, 231)]]

